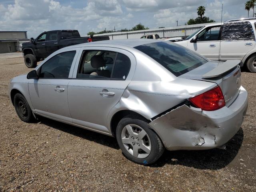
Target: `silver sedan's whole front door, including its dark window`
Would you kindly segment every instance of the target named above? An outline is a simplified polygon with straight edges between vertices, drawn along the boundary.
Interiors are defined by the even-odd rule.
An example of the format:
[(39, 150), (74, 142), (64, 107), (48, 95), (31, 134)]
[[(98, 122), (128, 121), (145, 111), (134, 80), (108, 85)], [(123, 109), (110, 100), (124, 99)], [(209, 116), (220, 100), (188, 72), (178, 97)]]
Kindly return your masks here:
[(31, 79), (28, 88), (35, 112), (72, 122), (68, 109), (68, 79), (75, 50), (62, 52), (47, 60), (39, 70), (39, 78)]

